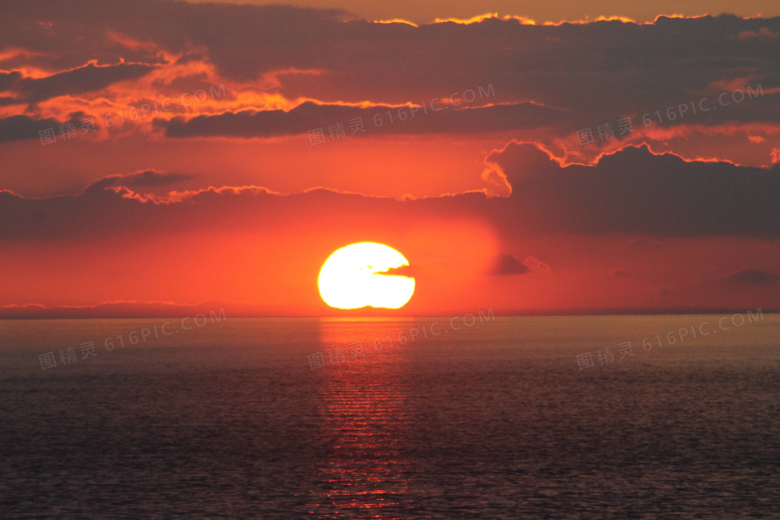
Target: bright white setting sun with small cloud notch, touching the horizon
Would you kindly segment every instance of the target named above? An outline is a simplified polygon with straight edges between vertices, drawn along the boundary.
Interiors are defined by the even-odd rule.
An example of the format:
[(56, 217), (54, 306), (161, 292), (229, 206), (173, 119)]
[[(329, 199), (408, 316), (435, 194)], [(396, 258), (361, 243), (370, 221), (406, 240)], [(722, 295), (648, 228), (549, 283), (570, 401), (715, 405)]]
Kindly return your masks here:
[(336, 309), (400, 309), (412, 298), (414, 278), (383, 273), (406, 265), (406, 258), (390, 246), (358, 242), (328, 256), (317, 285), (323, 301)]

